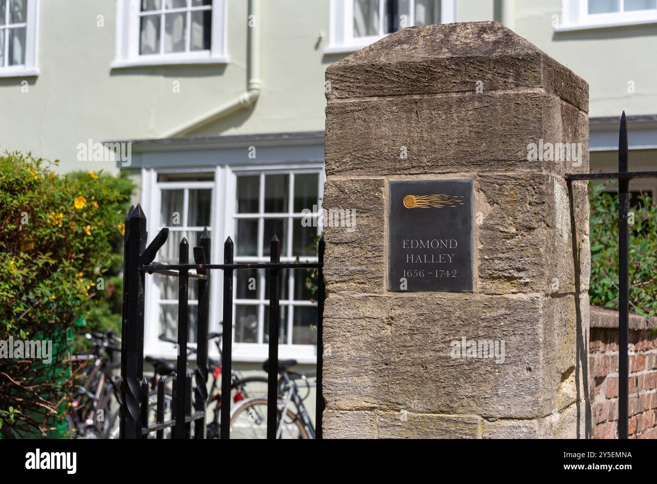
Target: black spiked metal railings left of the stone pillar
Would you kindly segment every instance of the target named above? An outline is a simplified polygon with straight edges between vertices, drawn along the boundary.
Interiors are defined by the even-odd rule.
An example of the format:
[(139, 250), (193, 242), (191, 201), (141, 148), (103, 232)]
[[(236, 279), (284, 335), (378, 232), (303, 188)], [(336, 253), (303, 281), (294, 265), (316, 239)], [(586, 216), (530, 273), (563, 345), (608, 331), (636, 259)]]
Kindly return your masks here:
[[(178, 264), (153, 262), (158, 250), (166, 243), (169, 230), (164, 228), (146, 246), (146, 216), (140, 205), (131, 207), (125, 218), (124, 239), (124, 302), (123, 336), (121, 349), (121, 400), (120, 437), (122, 439), (145, 439), (155, 432), (158, 439), (164, 438), (164, 429), (171, 428), (175, 439), (191, 438), (191, 423), (194, 422), (194, 438), (206, 437), (206, 402), (208, 402), (208, 322), (210, 319), (210, 272), (223, 270), (223, 347), (221, 355), (221, 439), (230, 437), (231, 370), (233, 341), (233, 274), (240, 269), (265, 269), (269, 279), (269, 372), (267, 375), (267, 439), (275, 439), (279, 421), (278, 372), (279, 367), (279, 303), (281, 271), (285, 269), (317, 269), (317, 401), (315, 438), (321, 439), (322, 413), (322, 349), (324, 312), (323, 258), (324, 239), (317, 247), (317, 262), (281, 263), (281, 241), (274, 235), (271, 239), (269, 263), (233, 262), (233, 241), (228, 237), (223, 249), (223, 264), (210, 264), (210, 237), (205, 230), (199, 240), (200, 247), (193, 248), (194, 264), (189, 264), (189, 245), (183, 238), (179, 246)], [(195, 271), (192, 273), (190, 271)], [(148, 422), (148, 382), (143, 377), (144, 362), (144, 283), (145, 274), (177, 277), (178, 292), (178, 335), (177, 366), (171, 394), (171, 418), (165, 419), (165, 387), (160, 378), (157, 388), (156, 422)], [(196, 369), (194, 378), (187, 370), (187, 345), (189, 335), (189, 279), (198, 279), (198, 306)], [(192, 380), (194, 379), (194, 385)], [(192, 389), (194, 387), (194, 401)], [(193, 404), (192, 404), (193, 403)], [(192, 410), (192, 407), (194, 410)]]

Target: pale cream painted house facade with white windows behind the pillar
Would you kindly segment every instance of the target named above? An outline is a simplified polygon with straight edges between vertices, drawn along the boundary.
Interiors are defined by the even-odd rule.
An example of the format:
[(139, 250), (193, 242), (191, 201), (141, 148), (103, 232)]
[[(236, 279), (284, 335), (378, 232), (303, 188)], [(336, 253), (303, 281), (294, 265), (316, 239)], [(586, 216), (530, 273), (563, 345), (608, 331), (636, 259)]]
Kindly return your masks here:
[[(301, 221), (321, 206), (328, 64), (404, 26), (474, 20), (503, 22), (589, 82), (594, 170), (615, 170), (622, 110), (631, 169), (655, 169), (657, 0), (0, 0), (0, 149), (129, 170), (148, 232), (170, 227), (170, 247), (208, 226), (214, 261), (228, 236), (237, 260), (266, 261), (273, 233), (282, 260), (312, 260), (321, 220)], [(125, 159), (95, 150), (108, 141)], [(173, 356), (157, 336), (175, 335), (175, 288), (147, 277), (145, 351)], [(263, 278), (235, 284), (244, 364), (267, 355)], [(280, 357), (312, 364), (305, 278), (286, 276)]]

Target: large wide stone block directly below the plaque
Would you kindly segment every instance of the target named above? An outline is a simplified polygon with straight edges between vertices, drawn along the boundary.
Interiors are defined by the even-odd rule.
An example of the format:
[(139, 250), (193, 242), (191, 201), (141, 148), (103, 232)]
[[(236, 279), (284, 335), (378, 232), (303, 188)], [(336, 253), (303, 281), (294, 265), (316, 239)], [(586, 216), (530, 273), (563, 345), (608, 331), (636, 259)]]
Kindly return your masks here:
[[(542, 418), (557, 400), (566, 406), (583, 396), (582, 372), (560, 379), (574, 366), (575, 317), (572, 297), (330, 297), (327, 408)], [(493, 346), (489, 358), (454, 358), (453, 342), (463, 338), (497, 341), (500, 350), (503, 342), (503, 357)]]

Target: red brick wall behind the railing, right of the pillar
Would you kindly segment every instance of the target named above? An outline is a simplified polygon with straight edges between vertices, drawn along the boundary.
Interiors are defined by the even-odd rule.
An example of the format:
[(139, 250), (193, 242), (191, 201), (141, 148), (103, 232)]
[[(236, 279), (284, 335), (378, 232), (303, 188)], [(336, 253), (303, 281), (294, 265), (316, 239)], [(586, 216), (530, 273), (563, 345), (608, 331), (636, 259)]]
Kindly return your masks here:
[[(594, 325), (592, 308), (589, 333), (592, 437), (615, 439), (618, 425), (618, 329)], [(646, 326), (645, 320), (643, 326)], [(629, 331), (629, 342), (634, 345), (629, 347), (629, 437), (657, 439), (657, 333), (649, 326), (635, 327)]]

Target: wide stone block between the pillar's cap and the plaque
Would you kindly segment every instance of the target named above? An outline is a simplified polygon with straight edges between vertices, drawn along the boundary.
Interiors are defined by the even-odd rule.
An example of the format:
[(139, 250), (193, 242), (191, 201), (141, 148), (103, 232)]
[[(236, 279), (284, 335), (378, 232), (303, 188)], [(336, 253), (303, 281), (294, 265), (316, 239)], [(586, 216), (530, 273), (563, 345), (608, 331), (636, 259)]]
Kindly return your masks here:
[[(562, 110), (543, 92), (373, 97), (327, 105), (328, 175), (426, 174), (527, 170), (588, 171), (581, 164), (528, 160), (529, 145), (581, 143), (588, 128), (555, 128)], [(574, 130), (574, 131), (573, 131)], [(583, 133), (586, 133), (585, 135)], [(407, 154), (407, 158), (401, 157)], [(564, 158), (565, 158), (564, 151)], [(559, 152), (559, 157), (560, 157)], [(376, 162), (373, 162), (376, 160)]]

